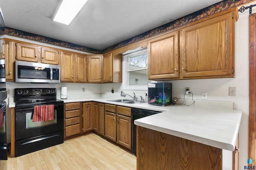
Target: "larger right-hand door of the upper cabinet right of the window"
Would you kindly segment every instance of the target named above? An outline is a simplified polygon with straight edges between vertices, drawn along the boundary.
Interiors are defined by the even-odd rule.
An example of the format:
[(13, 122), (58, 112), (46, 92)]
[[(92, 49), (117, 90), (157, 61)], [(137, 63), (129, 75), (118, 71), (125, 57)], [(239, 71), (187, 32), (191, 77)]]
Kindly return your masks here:
[(232, 13), (180, 30), (183, 78), (234, 76), (234, 26)]

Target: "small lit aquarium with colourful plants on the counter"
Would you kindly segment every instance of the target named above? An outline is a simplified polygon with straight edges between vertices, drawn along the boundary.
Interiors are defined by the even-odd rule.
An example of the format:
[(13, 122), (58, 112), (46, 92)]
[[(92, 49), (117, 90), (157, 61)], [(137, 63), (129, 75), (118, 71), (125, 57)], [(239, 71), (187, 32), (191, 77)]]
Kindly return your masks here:
[(148, 104), (156, 106), (172, 104), (172, 83), (148, 83)]

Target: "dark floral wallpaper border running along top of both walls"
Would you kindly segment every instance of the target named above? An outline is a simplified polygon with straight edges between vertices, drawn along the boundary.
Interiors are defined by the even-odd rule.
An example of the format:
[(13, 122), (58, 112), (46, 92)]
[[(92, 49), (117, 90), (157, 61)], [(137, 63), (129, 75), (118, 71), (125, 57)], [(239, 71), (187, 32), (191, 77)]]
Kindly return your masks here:
[(106, 49), (103, 49), (103, 50), (92, 49), (92, 48), (89, 48), (89, 47), (84, 47), (84, 46), (81, 46), (81, 45), (76, 45), (76, 44), (73, 44), (73, 43), (68, 43), (68, 42), (65, 42), (65, 41), (60, 41), (60, 40), (57, 40), (57, 39), (52, 39), (52, 38), (49, 38), (49, 37), (44, 37), (44, 36), (41, 36), (41, 35), (36, 35), (36, 34), (33, 34), (33, 33), (20, 31), (20, 30), (17, 30), (17, 29), (9, 28), (9, 27), (5, 27), (4, 33), (2, 33), (2, 34), (11, 35), (11, 36), (15, 36), (15, 37), (20, 37), (20, 38), (24, 38), (24, 39), (29, 39), (29, 40), (32, 40), (32, 41), (38, 41), (38, 42), (41, 42), (41, 43), (56, 45), (56, 46), (60, 46), (60, 47), (65, 47), (65, 48), (69, 48), (69, 49), (74, 49), (74, 50), (78, 50), (78, 51), (84, 51), (84, 52), (93, 53), (93, 54), (104, 54), (104, 53), (107, 53), (109, 51), (113, 51), (115, 49), (124, 47), (126, 45), (130, 45), (132, 43), (136, 43), (138, 41), (147, 39), (149, 37), (158, 35), (160, 33), (170, 31), (171, 29), (180, 27), (182, 25), (186, 25), (186, 24), (191, 23), (193, 21), (200, 20), (202, 18), (205, 18), (207, 16), (216, 14), (218, 12), (228, 10), (230, 8), (234, 8), (236, 6), (240, 6), (240, 5), (248, 3), (250, 1), (253, 1), (253, 0), (223, 0), (223, 1), (218, 2), (218, 3), (216, 3), (212, 6), (206, 7), (202, 10), (199, 10), (197, 12), (194, 12), (192, 14), (184, 16), (184, 17), (182, 17), (178, 20), (174, 20), (174, 21), (171, 21), (171, 22), (166, 23), (164, 25), (161, 25), (161, 26), (159, 26), (157, 28), (154, 28), (150, 31), (146, 31), (145, 33), (142, 33), (140, 35), (136, 35), (136, 36), (134, 36), (130, 39), (127, 39), (125, 41), (122, 41), (120, 43), (112, 45), (112, 46), (110, 46)]

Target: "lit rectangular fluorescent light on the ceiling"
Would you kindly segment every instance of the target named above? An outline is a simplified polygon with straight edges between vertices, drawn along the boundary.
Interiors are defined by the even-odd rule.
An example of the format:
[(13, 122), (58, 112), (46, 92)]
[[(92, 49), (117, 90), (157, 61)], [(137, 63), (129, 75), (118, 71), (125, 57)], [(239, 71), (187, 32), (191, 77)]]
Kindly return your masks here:
[(56, 8), (53, 21), (69, 25), (77, 16), (87, 0), (61, 0)]

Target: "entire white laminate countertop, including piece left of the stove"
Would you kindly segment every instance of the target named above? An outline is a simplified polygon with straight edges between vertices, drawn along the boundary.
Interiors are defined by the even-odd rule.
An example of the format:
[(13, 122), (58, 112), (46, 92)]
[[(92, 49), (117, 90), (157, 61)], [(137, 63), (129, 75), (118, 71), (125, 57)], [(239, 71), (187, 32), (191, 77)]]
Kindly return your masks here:
[[(122, 97), (115, 98), (121, 99)], [(60, 98), (58, 98), (60, 99)], [(242, 111), (233, 109), (233, 102), (196, 100), (194, 105), (169, 105), (165, 107), (144, 104), (110, 102), (108, 96), (70, 96), (69, 102), (103, 102), (140, 109), (163, 111), (137, 119), (138, 126), (174, 135), (212, 147), (234, 151), (240, 127)], [(60, 99), (62, 100), (62, 99)], [(15, 107), (14, 98), (9, 98), (9, 107)]]

